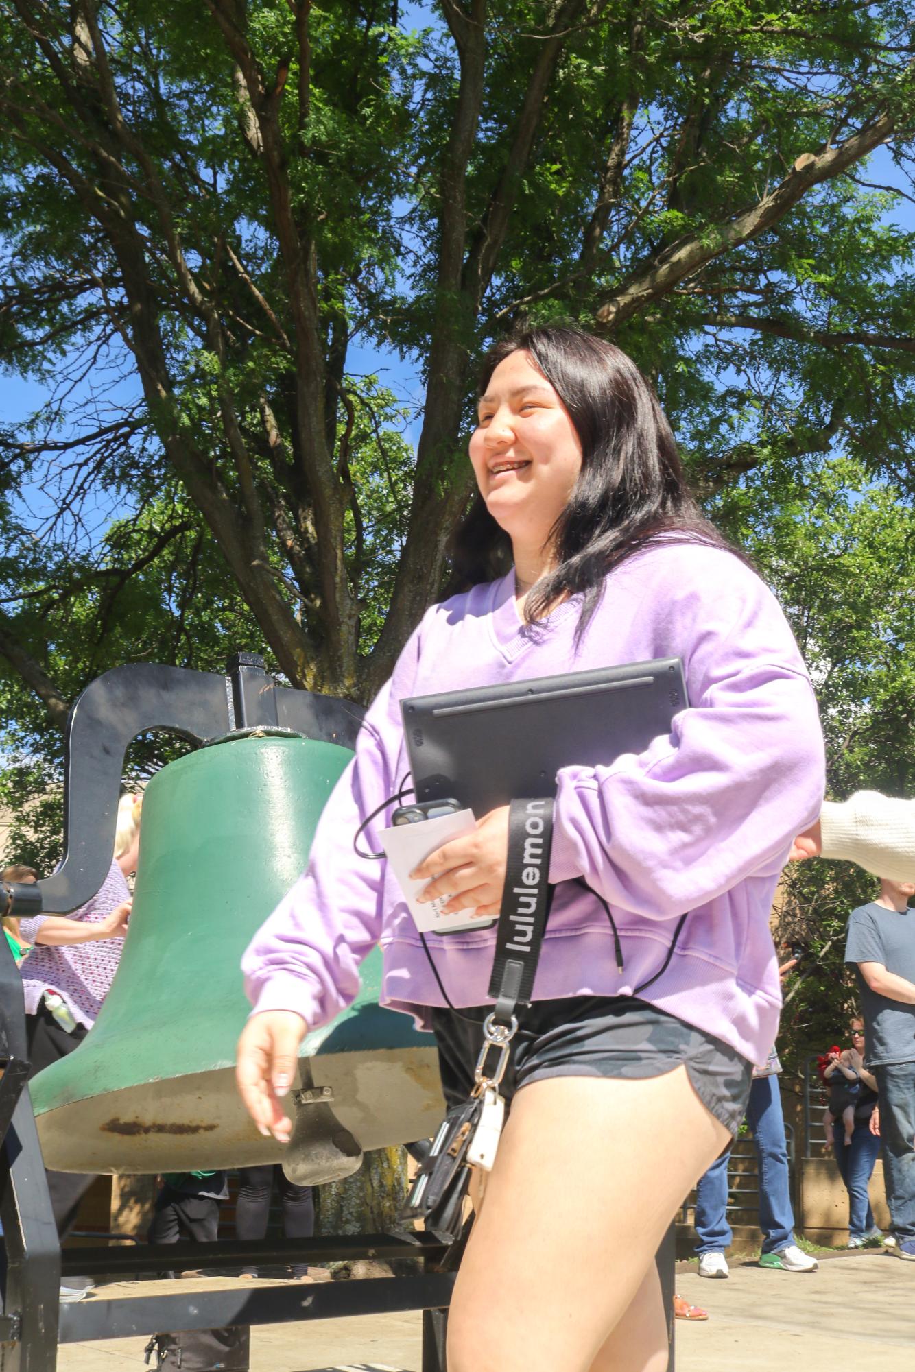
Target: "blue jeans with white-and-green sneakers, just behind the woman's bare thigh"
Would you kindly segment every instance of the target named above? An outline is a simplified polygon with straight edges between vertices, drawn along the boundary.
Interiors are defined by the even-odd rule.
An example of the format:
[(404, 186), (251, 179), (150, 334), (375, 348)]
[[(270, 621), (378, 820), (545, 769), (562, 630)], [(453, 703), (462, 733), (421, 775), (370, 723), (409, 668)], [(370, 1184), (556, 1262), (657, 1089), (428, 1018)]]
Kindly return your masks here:
[[(756, 1077), (750, 1087), (746, 1122), (756, 1144), (760, 1169), (760, 1229), (763, 1253), (781, 1253), (794, 1243), (785, 1117), (778, 1077)], [(723, 1253), (734, 1235), (727, 1222), (727, 1165), (730, 1152), (719, 1158), (700, 1177), (696, 1188), (696, 1251)]]

